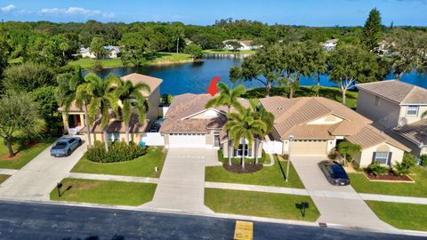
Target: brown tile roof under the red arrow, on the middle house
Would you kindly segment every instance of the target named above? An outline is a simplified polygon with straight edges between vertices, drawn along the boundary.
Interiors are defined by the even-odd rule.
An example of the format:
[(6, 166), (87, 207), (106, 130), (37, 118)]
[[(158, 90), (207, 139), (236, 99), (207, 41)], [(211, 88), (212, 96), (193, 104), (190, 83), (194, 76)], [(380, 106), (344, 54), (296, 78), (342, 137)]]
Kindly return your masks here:
[[(226, 107), (215, 108), (222, 114), (215, 118), (189, 118), (205, 111), (205, 103), (212, 98), (209, 94), (185, 93), (173, 98), (165, 115), (165, 122), (160, 132), (208, 132), (208, 129), (222, 129), (227, 121)], [(249, 107), (247, 100), (240, 100), (243, 106)]]

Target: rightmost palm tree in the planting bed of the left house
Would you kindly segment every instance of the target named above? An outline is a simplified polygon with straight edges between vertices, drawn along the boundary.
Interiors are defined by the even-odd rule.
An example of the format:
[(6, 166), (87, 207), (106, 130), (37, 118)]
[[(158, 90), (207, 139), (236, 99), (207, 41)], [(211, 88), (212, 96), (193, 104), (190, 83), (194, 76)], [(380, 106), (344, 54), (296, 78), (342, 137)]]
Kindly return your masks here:
[(149, 85), (139, 83), (133, 85), (131, 81), (125, 81), (117, 88), (118, 100), (122, 103), (120, 116), (126, 124), (126, 144), (129, 145), (129, 123), (132, 116), (132, 105), (135, 103), (138, 112), (140, 123), (143, 124), (147, 111), (149, 110), (149, 102), (142, 95), (142, 91), (150, 92)]

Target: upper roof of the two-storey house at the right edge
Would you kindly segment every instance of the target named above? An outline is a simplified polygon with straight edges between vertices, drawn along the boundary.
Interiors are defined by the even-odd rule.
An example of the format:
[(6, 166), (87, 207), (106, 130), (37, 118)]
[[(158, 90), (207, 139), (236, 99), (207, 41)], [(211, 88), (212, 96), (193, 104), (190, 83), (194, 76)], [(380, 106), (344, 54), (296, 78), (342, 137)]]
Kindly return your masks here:
[(427, 89), (398, 80), (357, 84), (357, 87), (399, 104), (427, 104)]

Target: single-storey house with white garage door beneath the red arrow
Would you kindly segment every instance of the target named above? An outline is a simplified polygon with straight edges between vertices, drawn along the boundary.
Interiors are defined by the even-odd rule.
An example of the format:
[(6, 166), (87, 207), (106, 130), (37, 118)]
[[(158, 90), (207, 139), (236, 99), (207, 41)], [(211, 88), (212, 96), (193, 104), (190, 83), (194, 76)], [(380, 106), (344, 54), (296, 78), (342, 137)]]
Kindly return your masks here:
[[(223, 156), (228, 156), (228, 140), (223, 130), (227, 122), (227, 108), (205, 108), (205, 103), (212, 98), (209, 94), (185, 93), (173, 98), (160, 133), (165, 138), (165, 148), (222, 148)], [(244, 107), (249, 107), (247, 100), (240, 99)], [(234, 110), (234, 109), (232, 109)], [(233, 156), (254, 157), (254, 146), (247, 146), (244, 141), (235, 149)], [(259, 153), (262, 152), (260, 146)]]

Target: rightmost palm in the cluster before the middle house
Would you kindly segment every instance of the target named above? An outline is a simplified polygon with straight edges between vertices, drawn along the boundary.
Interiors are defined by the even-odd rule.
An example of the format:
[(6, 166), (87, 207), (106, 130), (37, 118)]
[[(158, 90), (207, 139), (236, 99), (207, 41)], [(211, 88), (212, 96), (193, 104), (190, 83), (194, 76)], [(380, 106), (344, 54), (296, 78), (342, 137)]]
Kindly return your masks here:
[(254, 112), (254, 119), (261, 120), (266, 128), (264, 129), (255, 129), (254, 138), (255, 138), (255, 164), (258, 164), (258, 148), (260, 146), (260, 140), (262, 140), (267, 134), (271, 132), (274, 124), (274, 116), (268, 112), (265, 108), (260, 108), (257, 104), (257, 101), (250, 101), (252, 111)]

